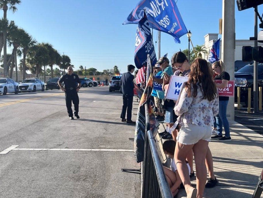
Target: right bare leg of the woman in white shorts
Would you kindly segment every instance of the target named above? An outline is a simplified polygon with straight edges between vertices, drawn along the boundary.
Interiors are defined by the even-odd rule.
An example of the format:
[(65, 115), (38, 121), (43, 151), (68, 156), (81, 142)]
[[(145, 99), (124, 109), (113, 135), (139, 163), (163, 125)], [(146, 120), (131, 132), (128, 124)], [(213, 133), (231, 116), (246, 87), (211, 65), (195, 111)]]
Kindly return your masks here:
[(206, 185), (206, 152), (208, 141), (200, 139), (194, 146), (197, 198), (202, 198)]

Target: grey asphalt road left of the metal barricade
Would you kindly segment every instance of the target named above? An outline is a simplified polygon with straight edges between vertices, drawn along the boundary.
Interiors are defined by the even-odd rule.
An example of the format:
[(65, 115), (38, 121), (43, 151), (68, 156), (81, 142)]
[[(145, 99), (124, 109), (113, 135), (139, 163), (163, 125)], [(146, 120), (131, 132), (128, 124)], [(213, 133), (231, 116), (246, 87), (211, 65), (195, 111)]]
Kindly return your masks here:
[(121, 171), (140, 168), (121, 94), (88, 87), (79, 97), (80, 119), (69, 120), (61, 90), (0, 95), (0, 151), (16, 145), (0, 154), (0, 197), (140, 197), (141, 176)]

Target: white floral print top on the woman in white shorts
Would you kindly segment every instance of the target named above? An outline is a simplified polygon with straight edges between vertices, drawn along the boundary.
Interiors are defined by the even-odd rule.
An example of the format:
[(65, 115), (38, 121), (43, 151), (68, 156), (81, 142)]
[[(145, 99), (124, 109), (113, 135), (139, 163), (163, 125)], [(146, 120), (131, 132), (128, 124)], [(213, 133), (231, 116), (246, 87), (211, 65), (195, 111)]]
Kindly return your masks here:
[(214, 116), (218, 114), (218, 95), (212, 101), (202, 100), (201, 87), (199, 84), (197, 87), (195, 98), (187, 97), (186, 90), (183, 88), (178, 104), (174, 107), (175, 114), (179, 116), (177, 122), (181, 127), (185, 127), (187, 123), (202, 127), (213, 126)]

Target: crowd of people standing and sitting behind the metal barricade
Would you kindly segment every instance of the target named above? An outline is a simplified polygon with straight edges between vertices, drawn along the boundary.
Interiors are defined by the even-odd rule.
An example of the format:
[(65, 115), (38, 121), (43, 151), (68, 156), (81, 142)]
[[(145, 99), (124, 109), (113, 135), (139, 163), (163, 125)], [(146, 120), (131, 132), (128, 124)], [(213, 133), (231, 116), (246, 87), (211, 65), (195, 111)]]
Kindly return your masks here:
[[(162, 57), (153, 67), (154, 81), (162, 85), (162, 90), (153, 90), (153, 106), (156, 119), (165, 123), (166, 129), (159, 135), (165, 139), (164, 153), (172, 159), (171, 169), (164, 167), (164, 172), (173, 196), (178, 188), (185, 188), (187, 197), (200, 198), (205, 187), (218, 184), (208, 142), (211, 139), (231, 141), (226, 118), (229, 98), (218, 96), (217, 92), (217, 88), (227, 86), (230, 76), (222, 61), (211, 64), (199, 58), (189, 63), (183, 52), (176, 52), (171, 65), (169, 63), (167, 57)], [(172, 75), (188, 77), (178, 101), (165, 98)], [(214, 80), (220, 81), (215, 83)], [(222, 135), (223, 126), (225, 136)], [(193, 155), (196, 188), (190, 182), (190, 177), (195, 176)]]

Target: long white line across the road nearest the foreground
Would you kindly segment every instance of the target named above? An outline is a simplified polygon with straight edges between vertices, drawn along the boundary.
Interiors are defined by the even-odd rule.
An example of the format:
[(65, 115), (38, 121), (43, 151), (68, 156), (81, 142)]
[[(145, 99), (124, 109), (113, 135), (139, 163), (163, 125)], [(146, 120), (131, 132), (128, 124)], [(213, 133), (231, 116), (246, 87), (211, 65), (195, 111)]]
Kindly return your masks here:
[(134, 150), (129, 149), (95, 149), (95, 148), (14, 148), (12, 150), (46, 150), (46, 151), (123, 151), (133, 152)]

